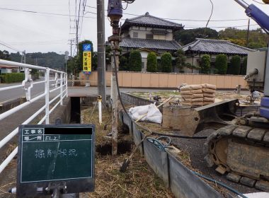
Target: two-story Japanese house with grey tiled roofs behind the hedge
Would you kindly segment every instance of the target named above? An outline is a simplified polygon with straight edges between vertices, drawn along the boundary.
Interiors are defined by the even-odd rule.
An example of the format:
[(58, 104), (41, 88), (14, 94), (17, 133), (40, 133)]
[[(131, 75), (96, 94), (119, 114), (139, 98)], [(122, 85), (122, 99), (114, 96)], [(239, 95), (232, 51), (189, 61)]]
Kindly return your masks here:
[(156, 52), (157, 59), (165, 52), (176, 52), (181, 45), (173, 39), (176, 30), (183, 29), (183, 25), (166, 21), (149, 15), (126, 19), (122, 25), (122, 54), (139, 50), (142, 56), (142, 71), (147, 71), (147, 54)]

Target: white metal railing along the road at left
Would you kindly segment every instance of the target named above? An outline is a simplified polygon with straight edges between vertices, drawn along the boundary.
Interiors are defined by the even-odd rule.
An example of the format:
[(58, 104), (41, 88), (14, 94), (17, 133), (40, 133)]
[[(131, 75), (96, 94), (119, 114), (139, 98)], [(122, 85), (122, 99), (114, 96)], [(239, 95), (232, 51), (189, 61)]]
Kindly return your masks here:
[[(18, 68), (24, 69), (25, 79), (22, 81), (21, 85), (16, 86), (8, 86), (4, 88), (0, 88), (1, 91), (7, 91), (12, 90), (14, 88), (23, 88), (25, 92), (25, 98), (26, 102), (18, 105), (17, 107), (13, 107), (11, 110), (8, 110), (2, 114), (0, 114), (0, 122), (4, 118), (8, 117), (9, 115), (12, 115), (15, 112), (18, 112), (18, 110), (23, 109), (24, 107), (27, 107), (31, 103), (40, 100), (41, 98), (45, 97), (45, 104), (40, 107), (40, 109), (35, 112), (33, 115), (31, 115), (27, 120), (25, 120), (21, 124), (29, 124), (31, 121), (35, 119), (35, 117), (38, 117), (40, 113), (45, 112), (45, 116), (41, 118), (41, 120), (38, 122), (38, 124), (42, 124), (45, 122), (45, 124), (50, 124), (50, 114), (55, 110), (55, 108), (58, 105), (62, 105), (62, 100), (64, 100), (65, 97), (67, 97), (67, 74), (62, 71), (57, 71), (55, 69), (50, 69), (47, 67), (42, 66), (35, 66), (30, 64), (21, 64), (17, 62), (9, 62), (6, 60), (0, 59), (1, 65), (6, 66), (17, 66)], [(43, 71), (45, 73), (45, 79), (43, 81), (37, 81), (33, 82), (33, 80), (30, 78), (29, 69), (38, 69), (39, 71)], [(54, 75), (53, 79), (50, 79), (50, 74)], [(55, 82), (55, 84), (50, 85), (50, 82)], [(30, 85), (29, 85), (30, 83)], [(40, 95), (35, 96), (34, 98), (31, 98), (31, 90), (33, 87), (37, 84), (44, 83), (45, 84), (45, 91), (43, 93), (40, 93)], [(28, 86), (26, 86), (28, 84)], [(54, 86), (55, 88), (50, 89), (50, 86)], [(59, 91), (59, 94), (57, 94), (54, 98), (50, 98), (50, 93), (53, 93), (55, 91)], [(50, 105), (54, 103), (58, 99), (57, 103), (50, 108)], [(0, 149), (8, 143), (14, 136), (18, 134), (18, 127), (13, 130), (10, 134), (8, 134), (4, 139), (0, 141)], [(0, 165), (0, 173), (6, 168), (8, 163), (11, 162), (11, 160), (16, 156), (18, 153), (18, 147), (16, 147), (12, 153), (4, 160), (3, 163)]]

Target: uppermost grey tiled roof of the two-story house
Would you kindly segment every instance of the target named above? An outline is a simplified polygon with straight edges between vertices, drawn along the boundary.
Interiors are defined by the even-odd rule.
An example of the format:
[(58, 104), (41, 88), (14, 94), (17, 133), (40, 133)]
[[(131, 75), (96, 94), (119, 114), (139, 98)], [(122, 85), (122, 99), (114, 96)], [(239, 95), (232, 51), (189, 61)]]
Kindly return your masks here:
[(135, 18), (127, 18), (125, 23), (122, 25), (122, 29), (130, 27), (131, 25), (145, 26), (145, 27), (156, 27), (156, 28), (169, 28), (173, 30), (181, 30), (183, 28), (182, 24), (173, 23), (171, 21), (164, 20), (146, 13), (142, 16), (137, 16)]

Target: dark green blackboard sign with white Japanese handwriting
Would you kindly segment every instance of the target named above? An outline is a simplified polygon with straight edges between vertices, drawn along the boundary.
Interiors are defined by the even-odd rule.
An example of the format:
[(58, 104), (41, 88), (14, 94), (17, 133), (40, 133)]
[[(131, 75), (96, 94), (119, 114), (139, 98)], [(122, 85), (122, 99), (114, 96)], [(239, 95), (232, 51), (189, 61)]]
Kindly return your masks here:
[(21, 125), (17, 196), (47, 194), (49, 186), (92, 192), (94, 131), (92, 124)]

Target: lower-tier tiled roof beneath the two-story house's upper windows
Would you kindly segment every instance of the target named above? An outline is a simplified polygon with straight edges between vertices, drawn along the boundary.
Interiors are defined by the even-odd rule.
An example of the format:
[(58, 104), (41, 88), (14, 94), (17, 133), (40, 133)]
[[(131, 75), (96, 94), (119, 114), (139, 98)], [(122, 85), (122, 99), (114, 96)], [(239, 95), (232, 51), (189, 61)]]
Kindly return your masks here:
[(147, 48), (151, 50), (178, 50), (181, 45), (176, 40), (149, 40), (139, 38), (122, 38), (120, 47)]

